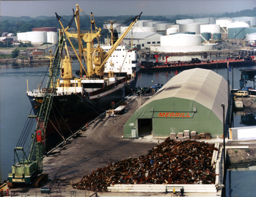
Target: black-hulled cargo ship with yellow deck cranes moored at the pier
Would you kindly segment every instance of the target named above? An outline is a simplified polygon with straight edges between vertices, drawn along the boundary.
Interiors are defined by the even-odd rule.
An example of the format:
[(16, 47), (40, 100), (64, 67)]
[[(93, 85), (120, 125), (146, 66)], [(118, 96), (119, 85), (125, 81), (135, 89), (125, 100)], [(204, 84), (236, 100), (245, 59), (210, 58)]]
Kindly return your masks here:
[[(135, 88), (140, 71), (137, 48), (126, 48), (120, 44), (142, 13), (135, 16), (115, 42), (112, 39), (111, 44), (100, 46), (94, 43), (95, 40), (99, 43), (101, 28), (96, 27), (93, 14), (90, 15), (91, 31), (81, 31), (79, 11), (80, 7), (76, 5), (73, 16), (76, 20), (76, 32), (69, 31), (69, 27), (64, 28), (56, 14), (61, 31), (72, 48), (70, 38), (78, 38), (79, 52), (77, 53), (75, 48), (73, 50), (80, 62), (80, 77), (76, 78), (72, 74), (72, 59), (65, 46), (65, 55), (62, 55), (60, 63), (60, 79), (54, 88), (53, 104), (46, 128), (47, 140), (51, 140), (49, 136), (52, 134), (60, 134), (61, 138), (65, 139), (65, 136), (72, 135), (88, 121), (104, 113), (113, 102), (121, 101)], [(82, 46), (82, 40), (86, 42), (86, 47)], [(82, 58), (87, 69), (82, 64)], [(85, 75), (82, 75), (82, 71)], [(46, 89), (42, 87), (27, 90), (34, 114), (39, 112), (44, 91)]]

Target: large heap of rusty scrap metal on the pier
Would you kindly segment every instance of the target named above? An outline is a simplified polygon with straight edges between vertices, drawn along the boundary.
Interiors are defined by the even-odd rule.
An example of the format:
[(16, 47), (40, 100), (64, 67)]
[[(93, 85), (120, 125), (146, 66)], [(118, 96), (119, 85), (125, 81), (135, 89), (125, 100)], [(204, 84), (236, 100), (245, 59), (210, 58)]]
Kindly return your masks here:
[(73, 188), (108, 191), (115, 184), (214, 184), (211, 166), (214, 144), (167, 138), (150, 154), (138, 159), (125, 159), (98, 168), (73, 184)]

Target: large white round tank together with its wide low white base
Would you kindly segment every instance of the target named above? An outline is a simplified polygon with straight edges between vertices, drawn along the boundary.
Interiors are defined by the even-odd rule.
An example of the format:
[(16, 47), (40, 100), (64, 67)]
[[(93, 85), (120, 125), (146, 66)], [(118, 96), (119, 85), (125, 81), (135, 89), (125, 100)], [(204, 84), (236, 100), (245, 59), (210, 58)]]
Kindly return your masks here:
[(216, 44), (201, 44), (200, 35), (174, 34), (160, 37), (160, 46), (150, 46), (151, 52), (187, 53), (212, 50)]

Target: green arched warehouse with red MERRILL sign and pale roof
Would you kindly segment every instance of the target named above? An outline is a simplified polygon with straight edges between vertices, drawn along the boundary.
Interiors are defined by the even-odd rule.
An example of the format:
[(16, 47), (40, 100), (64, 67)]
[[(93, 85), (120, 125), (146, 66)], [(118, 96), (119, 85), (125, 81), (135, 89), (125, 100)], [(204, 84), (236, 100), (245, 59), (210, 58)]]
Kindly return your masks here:
[[(229, 88), (230, 89), (230, 88)], [(174, 76), (123, 126), (124, 138), (170, 136), (184, 130), (223, 134), (228, 109), (228, 82), (211, 70), (194, 68)]]

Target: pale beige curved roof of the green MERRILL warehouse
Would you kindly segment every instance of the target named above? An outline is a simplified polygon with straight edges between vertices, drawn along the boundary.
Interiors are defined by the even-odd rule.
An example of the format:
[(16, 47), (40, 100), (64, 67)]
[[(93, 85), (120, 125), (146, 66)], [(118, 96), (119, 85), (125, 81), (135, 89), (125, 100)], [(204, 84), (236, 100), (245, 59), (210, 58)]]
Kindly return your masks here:
[(155, 93), (143, 106), (154, 100), (168, 97), (194, 100), (212, 110), (222, 121), (223, 111), (221, 104), (228, 109), (228, 82), (211, 70), (193, 68), (174, 76), (158, 92)]

